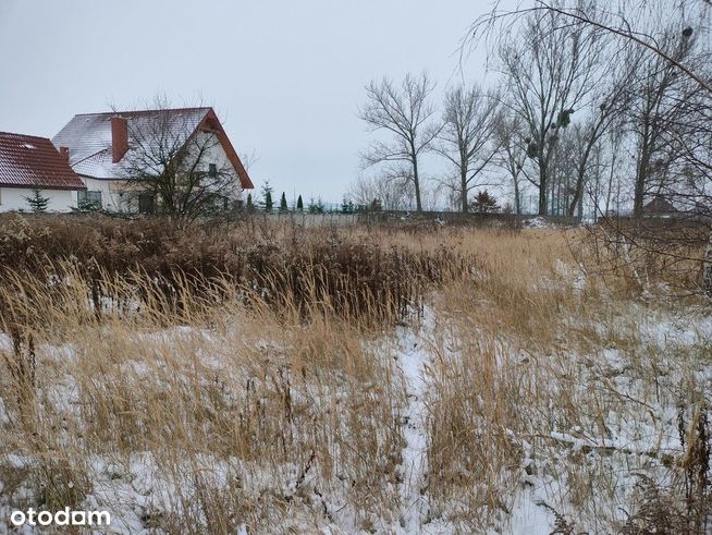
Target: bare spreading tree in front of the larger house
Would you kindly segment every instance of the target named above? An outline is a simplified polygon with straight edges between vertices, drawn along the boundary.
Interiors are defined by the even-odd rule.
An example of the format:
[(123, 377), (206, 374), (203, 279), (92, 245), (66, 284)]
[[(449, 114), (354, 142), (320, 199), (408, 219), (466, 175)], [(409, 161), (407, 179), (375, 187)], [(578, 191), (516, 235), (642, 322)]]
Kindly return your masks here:
[(121, 160), (130, 179), (125, 195), (139, 204), (149, 199), (154, 210), (184, 221), (231, 207), (241, 183), (232, 165), (216, 157), (219, 125), (204, 121), (206, 110), (172, 110), (157, 99), (155, 109), (132, 113)]

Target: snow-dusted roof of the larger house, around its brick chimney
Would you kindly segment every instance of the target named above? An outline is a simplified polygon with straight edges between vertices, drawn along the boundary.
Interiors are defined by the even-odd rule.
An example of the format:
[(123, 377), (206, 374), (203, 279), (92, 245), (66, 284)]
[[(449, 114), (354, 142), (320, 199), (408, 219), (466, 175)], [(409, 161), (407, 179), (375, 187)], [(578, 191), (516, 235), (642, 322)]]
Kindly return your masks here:
[(130, 122), (130, 151), (132, 145), (147, 143), (142, 133), (150, 130), (151, 122), (157, 118), (165, 125), (167, 134), (179, 143), (187, 143), (201, 126), (209, 122), (235, 169), (242, 186), (244, 189), (254, 187), (212, 108), (112, 111), (74, 115), (52, 138), (52, 143), (58, 147), (69, 147), (70, 165), (79, 174), (97, 179), (116, 179), (122, 175), (121, 161), (114, 163), (111, 154), (111, 118), (115, 115), (123, 117)]

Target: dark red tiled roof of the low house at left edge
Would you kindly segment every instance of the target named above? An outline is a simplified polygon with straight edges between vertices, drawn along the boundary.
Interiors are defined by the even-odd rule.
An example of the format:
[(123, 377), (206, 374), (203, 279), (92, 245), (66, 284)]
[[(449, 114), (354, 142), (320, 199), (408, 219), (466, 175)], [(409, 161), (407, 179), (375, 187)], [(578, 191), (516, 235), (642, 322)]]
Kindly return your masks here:
[(8, 132), (0, 132), (0, 186), (85, 190), (52, 142)]

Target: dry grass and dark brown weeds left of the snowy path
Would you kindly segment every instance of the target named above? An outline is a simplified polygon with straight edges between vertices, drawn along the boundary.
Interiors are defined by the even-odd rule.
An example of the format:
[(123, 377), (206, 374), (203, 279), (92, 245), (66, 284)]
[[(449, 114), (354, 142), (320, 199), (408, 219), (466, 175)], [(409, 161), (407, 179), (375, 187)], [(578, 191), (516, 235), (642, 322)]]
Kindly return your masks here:
[[(13, 507), (99, 500), (169, 533), (397, 519), (405, 388), (364, 340), (417, 316), (464, 257), (286, 228), (256, 243), (198, 230), (188, 248), (185, 230), (148, 239), (146, 223), (139, 242), (167, 258), (130, 247), (144, 223), (103, 222), (78, 245), (84, 222), (63, 224), (3, 228)], [(121, 504), (107, 488), (143, 493), (137, 471), (150, 499)]]

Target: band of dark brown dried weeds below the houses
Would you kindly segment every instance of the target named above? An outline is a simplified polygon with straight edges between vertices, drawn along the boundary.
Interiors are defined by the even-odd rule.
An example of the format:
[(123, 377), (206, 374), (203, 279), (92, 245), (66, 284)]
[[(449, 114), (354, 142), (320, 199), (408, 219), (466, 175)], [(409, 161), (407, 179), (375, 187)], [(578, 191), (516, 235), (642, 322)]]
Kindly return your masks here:
[[(65, 289), (52, 281), (78, 277), (97, 315), (105, 300), (130, 299), (112, 293), (133, 281), (143, 302), (177, 311), (238, 294), (303, 316), (328, 309), (381, 321), (419, 309), (432, 283), (468, 265), (444, 248), (385, 250), (326, 229), (289, 238), (278, 235), (281, 230), (247, 223), (186, 229), (165, 218), (12, 216), (0, 218), (0, 280), (17, 287), (17, 279), (34, 279), (42, 292), (61, 294)], [(8, 320), (9, 308), (5, 303), (0, 319)]]

